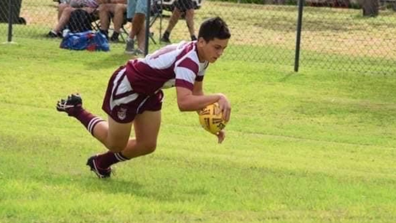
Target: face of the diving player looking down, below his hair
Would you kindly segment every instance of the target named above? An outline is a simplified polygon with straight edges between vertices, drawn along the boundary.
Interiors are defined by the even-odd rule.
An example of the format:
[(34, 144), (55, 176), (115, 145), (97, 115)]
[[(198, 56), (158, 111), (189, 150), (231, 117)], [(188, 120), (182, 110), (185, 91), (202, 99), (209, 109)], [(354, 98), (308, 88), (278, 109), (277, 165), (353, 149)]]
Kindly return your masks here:
[(204, 38), (199, 38), (198, 48), (200, 48), (200, 60), (206, 60), (209, 63), (215, 62), (223, 54), (225, 48), (227, 48), (228, 39), (214, 38), (209, 42), (206, 42)]

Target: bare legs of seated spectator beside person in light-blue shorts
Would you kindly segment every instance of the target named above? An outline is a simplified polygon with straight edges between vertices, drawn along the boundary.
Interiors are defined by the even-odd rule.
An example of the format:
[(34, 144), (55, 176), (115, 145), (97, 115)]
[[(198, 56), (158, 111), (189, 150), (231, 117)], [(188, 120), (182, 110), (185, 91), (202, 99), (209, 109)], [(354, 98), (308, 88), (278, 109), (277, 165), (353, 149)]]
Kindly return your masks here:
[(109, 39), (110, 19), (113, 19), (114, 32), (110, 41), (118, 42), (121, 27), (124, 24), (127, 11), (127, 0), (112, 0), (111, 3), (101, 4), (98, 8), (100, 19), (100, 32)]

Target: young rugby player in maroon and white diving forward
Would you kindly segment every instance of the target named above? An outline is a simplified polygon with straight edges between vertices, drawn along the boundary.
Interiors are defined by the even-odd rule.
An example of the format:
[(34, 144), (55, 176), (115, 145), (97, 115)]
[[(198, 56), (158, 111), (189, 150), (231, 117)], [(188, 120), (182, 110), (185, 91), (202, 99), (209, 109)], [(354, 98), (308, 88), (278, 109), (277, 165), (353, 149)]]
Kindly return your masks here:
[[(161, 124), (162, 89), (175, 87), (182, 112), (198, 111), (217, 102), (223, 118), (231, 105), (224, 94), (204, 94), (202, 81), (209, 63), (223, 54), (231, 37), (220, 17), (204, 21), (198, 40), (165, 46), (145, 58), (129, 60), (110, 77), (102, 109), (107, 121), (82, 107), (79, 94), (57, 103), (57, 110), (78, 119), (109, 152), (91, 156), (87, 165), (99, 178), (110, 177), (111, 165), (154, 152)], [(130, 138), (131, 128), (135, 138)], [(217, 134), (221, 143), (222, 130)]]

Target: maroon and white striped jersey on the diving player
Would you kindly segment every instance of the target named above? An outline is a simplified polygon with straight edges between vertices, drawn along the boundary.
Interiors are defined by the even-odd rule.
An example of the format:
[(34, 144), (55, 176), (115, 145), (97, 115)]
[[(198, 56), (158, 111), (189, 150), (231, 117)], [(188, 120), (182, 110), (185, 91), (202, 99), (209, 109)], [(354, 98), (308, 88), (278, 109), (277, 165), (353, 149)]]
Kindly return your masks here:
[(207, 67), (207, 61), (198, 60), (196, 41), (180, 42), (129, 60), (125, 74), (134, 92), (150, 95), (170, 87), (192, 90), (195, 81), (204, 79)]

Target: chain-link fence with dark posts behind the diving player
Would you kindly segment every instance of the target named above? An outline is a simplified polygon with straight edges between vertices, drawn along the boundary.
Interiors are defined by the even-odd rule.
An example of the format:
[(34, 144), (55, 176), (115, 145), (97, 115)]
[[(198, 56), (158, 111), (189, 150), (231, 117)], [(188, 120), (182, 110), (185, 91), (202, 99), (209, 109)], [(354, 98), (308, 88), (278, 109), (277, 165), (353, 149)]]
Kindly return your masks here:
[[(8, 1), (0, 0), (0, 38), (4, 40), (7, 40), (9, 33)], [(195, 6), (198, 6), (194, 10), (195, 33), (198, 33), (199, 24), (204, 19), (219, 15), (227, 21), (232, 33), (224, 58), (294, 65), (297, 2), (253, 0), (253, 4), (251, 0), (244, 1), (194, 0)], [(353, 0), (306, 0), (302, 17), (300, 67), (395, 73), (396, 2), (376, 1), (362, 0), (359, 4)], [(47, 38), (48, 32), (57, 25), (59, 2), (12, 2), (13, 38)], [(150, 51), (160, 46), (159, 40), (169, 23), (174, 2), (152, 2), (157, 8), (152, 10), (150, 17)], [(131, 23), (124, 24), (123, 28), (125, 31), (122, 33), (128, 33)], [(122, 33), (120, 42), (110, 42), (112, 50), (123, 52), (127, 34)], [(171, 31), (170, 39), (172, 42), (190, 40), (185, 19), (179, 20)]]

